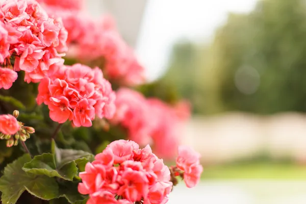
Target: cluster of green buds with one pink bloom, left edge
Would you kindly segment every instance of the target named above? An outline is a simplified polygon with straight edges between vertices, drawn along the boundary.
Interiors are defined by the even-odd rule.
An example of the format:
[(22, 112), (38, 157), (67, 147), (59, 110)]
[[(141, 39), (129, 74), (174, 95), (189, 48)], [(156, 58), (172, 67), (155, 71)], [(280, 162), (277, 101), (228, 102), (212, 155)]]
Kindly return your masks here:
[[(1, 117), (5, 118), (3, 120), (7, 127), (9, 127), (9, 130), (3, 129), (0, 133), (0, 139), (7, 140), (6, 146), (16, 146), (20, 141), (24, 142), (25, 140), (30, 138), (30, 134), (35, 133), (35, 130), (33, 127), (30, 126), (24, 126), (23, 122), (17, 121), (17, 117), (19, 115), (19, 111), (14, 111), (13, 116), (12, 115), (0, 115), (0, 121)], [(13, 134), (12, 134), (13, 133)]]

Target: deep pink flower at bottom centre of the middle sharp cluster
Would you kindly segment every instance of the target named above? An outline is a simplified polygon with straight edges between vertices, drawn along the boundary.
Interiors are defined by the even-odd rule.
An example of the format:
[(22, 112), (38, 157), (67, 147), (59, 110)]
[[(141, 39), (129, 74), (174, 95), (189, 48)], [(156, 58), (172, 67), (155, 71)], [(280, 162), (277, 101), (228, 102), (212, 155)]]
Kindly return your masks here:
[(90, 127), (92, 125), (91, 120), (93, 120), (95, 116), (93, 108), (95, 103), (95, 100), (87, 98), (83, 98), (79, 101), (78, 105), (73, 110), (73, 124), (75, 126)]

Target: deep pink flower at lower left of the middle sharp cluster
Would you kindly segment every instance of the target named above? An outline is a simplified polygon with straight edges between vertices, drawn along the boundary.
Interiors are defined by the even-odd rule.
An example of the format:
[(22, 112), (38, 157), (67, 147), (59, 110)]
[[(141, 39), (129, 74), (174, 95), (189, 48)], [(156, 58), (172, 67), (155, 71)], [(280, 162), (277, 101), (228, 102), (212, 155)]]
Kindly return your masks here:
[(69, 108), (69, 101), (65, 96), (50, 97), (48, 108), (50, 110), (50, 118), (58, 123), (64, 123), (68, 119), (73, 119), (73, 113)]

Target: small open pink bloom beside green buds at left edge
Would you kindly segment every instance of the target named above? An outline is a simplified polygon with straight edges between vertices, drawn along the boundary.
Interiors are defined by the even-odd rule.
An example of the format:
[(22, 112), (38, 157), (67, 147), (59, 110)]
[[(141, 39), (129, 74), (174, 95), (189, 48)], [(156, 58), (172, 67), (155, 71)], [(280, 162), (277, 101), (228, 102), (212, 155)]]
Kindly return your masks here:
[(0, 132), (15, 135), (20, 129), (17, 119), (12, 115), (0, 115)]

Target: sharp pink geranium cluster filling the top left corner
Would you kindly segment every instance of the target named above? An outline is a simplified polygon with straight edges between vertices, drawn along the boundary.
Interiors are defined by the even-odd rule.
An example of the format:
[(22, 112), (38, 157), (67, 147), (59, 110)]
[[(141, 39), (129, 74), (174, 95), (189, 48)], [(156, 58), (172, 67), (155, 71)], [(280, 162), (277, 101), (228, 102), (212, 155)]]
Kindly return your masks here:
[(35, 0), (1, 3), (0, 64), (6, 68), (0, 70), (0, 88), (11, 87), (16, 80), (13, 70), (24, 71), (28, 83), (39, 82), (50, 67), (63, 63), (59, 53), (66, 52), (66, 39), (62, 21), (49, 18)]

